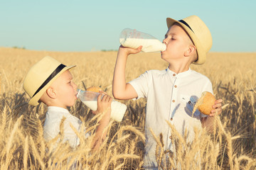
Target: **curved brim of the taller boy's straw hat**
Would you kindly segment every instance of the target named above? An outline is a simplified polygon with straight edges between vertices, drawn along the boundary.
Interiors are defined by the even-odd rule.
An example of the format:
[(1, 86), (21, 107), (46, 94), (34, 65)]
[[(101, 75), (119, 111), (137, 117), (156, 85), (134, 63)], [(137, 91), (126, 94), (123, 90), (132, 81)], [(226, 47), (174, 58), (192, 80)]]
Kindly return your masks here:
[(198, 40), (198, 38), (196, 37), (196, 35), (193, 33), (193, 31), (188, 28), (188, 26), (186, 26), (185, 24), (181, 23), (180, 21), (176, 21), (172, 18), (166, 18), (166, 23), (167, 23), (167, 27), (168, 29), (174, 25), (174, 23), (178, 23), (182, 26), (182, 28), (184, 30), (186, 30), (186, 33), (188, 33), (188, 35), (190, 36), (191, 40), (193, 41), (193, 44), (196, 46), (196, 52), (198, 54), (198, 60), (196, 60), (195, 62), (193, 62), (193, 64), (203, 64), (204, 62), (206, 62), (206, 54), (203, 51), (203, 47), (200, 43), (200, 41)]

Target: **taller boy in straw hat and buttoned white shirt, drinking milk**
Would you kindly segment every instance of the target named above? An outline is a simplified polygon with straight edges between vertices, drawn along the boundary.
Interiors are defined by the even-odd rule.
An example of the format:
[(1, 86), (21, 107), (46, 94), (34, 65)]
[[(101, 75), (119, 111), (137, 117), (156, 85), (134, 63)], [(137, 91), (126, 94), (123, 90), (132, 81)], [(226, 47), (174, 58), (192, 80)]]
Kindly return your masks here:
[(198, 16), (188, 16), (180, 21), (167, 18), (166, 21), (169, 30), (163, 40), (166, 50), (161, 52), (161, 58), (169, 63), (167, 69), (149, 70), (126, 84), (127, 57), (140, 52), (142, 46), (137, 49), (120, 46), (114, 69), (114, 98), (127, 100), (145, 97), (147, 101), (145, 169), (158, 169), (155, 157), (156, 141), (150, 129), (157, 136), (162, 133), (164, 149), (171, 149), (171, 130), (166, 120), (169, 120), (181, 135), (187, 135), (188, 142), (191, 142), (194, 127), (210, 128), (215, 113), (221, 113), (222, 100), (219, 99), (215, 101), (209, 116), (199, 111), (192, 116), (191, 103), (200, 98), (203, 91), (213, 94), (210, 80), (189, 68), (192, 63), (206, 62), (206, 53), (212, 46), (212, 38), (206, 24)]

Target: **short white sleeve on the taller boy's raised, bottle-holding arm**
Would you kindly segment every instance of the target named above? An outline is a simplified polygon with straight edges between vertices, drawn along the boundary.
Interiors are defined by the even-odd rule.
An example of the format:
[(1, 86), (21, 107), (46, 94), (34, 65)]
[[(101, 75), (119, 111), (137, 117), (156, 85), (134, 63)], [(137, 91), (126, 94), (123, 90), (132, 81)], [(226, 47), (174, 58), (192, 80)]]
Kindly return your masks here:
[(129, 81), (129, 84), (132, 85), (132, 87), (137, 92), (139, 98), (145, 98), (147, 97), (147, 92), (149, 91), (149, 84), (150, 84), (150, 72), (146, 71), (144, 74), (141, 74), (137, 79), (134, 79), (132, 81)]

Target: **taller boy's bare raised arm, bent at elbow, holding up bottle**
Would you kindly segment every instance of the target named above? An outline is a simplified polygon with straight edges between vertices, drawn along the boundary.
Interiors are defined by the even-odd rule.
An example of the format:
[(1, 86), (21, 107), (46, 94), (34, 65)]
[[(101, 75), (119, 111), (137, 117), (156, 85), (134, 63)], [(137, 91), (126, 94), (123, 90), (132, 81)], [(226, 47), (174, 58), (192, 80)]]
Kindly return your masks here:
[(131, 98), (137, 98), (137, 92), (131, 84), (127, 84), (125, 81), (125, 67), (127, 63), (127, 57), (130, 54), (136, 54), (142, 50), (142, 46), (137, 49), (128, 47), (119, 47), (117, 53), (117, 62), (114, 67), (113, 76), (113, 96), (117, 99), (127, 100)]

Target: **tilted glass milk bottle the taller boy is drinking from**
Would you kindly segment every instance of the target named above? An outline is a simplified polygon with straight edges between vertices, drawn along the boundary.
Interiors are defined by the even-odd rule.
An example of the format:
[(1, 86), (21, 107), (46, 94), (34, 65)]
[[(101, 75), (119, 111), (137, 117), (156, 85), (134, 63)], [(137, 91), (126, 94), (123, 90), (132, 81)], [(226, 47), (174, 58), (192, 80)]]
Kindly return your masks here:
[(152, 35), (137, 30), (126, 28), (119, 37), (120, 44), (124, 47), (137, 49), (142, 45), (143, 52), (158, 52), (166, 50), (166, 45)]

